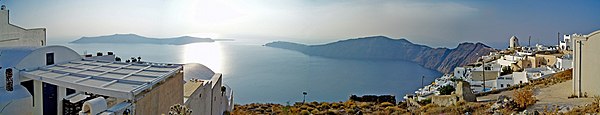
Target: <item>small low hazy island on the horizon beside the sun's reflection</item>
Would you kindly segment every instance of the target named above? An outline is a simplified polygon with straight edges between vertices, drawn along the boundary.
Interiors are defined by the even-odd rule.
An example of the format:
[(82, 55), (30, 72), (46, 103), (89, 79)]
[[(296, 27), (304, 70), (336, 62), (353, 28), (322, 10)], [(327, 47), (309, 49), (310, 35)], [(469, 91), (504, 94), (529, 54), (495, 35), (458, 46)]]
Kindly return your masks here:
[(97, 37), (81, 37), (70, 43), (119, 43), (119, 44), (168, 44), (184, 45), (197, 42), (232, 41), (231, 39), (197, 38), (181, 36), (174, 38), (150, 38), (136, 34), (114, 34)]

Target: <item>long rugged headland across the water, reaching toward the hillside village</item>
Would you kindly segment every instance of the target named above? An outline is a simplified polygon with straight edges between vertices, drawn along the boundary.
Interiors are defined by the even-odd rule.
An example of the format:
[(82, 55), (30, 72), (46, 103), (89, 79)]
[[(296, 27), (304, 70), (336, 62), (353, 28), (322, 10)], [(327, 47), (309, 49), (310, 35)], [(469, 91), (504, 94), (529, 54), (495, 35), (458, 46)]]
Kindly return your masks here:
[(264, 46), (329, 58), (412, 61), (442, 73), (448, 73), (455, 67), (473, 63), (479, 56), (495, 51), (483, 43), (461, 43), (454, 49), (432, 48), (411, 43), (406, 39), (392, 39), (386, 36), (355, 38), (322, 45), (276, 41)]

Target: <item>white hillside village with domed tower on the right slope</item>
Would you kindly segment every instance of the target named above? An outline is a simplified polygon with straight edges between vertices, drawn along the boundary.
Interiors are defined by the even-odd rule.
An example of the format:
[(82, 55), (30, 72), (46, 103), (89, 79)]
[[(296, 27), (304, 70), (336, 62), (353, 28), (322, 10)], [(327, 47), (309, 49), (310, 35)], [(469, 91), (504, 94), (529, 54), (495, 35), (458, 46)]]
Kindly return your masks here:
[[(450, 105), (459, 100), (477, 101), (475, 94), (502, 91), (511, 86), (526, 84), (543, 79), (555, 73), (572, 69), (572, 96), (588, 97), (600, 95), (600, 72), (594, 65), (600, 52), (600, 30), (585, 34), (566, 34), (557, 37), (554, 45), (520, 44), (520, 38), (510, 37), (508, 48), (489, 54), (474, 54), (480, 59), (472, 64), (456, 67), (452, 73), (436, 78), (431, 84), (419, 88), (414, 94), (404, 96), (405, 100), (432, 99), (433, 103)], [(529, 41), (531, 38), (529, 38)], [(454, 94), (440, 100), (440, 89), (453, 86)], [(446, 96), (448, 97), (448, 96)], [(566, 98), (566, 97), (565, 97)], [(448, 100), (451, 99), (451, 100)]]

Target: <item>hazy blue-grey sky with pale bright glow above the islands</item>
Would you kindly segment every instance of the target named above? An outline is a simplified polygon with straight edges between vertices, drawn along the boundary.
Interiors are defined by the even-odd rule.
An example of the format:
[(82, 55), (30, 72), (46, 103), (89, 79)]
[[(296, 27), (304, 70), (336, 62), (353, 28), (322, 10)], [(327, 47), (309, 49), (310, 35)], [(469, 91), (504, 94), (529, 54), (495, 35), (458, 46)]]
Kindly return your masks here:
[(557, 33), (600, 29), (598, 0), (0, 0), (12, 24), (49, 40), (134, 33), (148, 37), (322, 44), (383, 35), (432, 47), (483, 42), (556, 44)]

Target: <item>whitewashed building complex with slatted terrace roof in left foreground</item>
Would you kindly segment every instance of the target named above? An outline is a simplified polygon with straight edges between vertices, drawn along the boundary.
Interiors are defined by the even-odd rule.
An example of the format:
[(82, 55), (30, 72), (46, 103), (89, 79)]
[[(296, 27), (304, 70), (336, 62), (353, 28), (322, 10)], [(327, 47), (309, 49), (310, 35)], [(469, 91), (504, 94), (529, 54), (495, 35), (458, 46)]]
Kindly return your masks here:
[(9, 23), (0, 10), (0, 115), (160, 115), (175, 104), (194, 115), (233, 110), (222, 74), (201, 64), (121, 62), (46, 46), (46, 29)]

